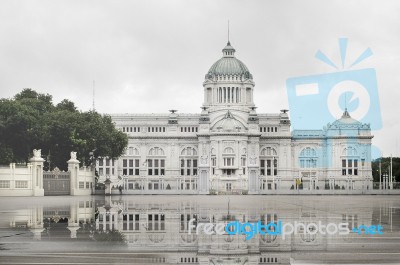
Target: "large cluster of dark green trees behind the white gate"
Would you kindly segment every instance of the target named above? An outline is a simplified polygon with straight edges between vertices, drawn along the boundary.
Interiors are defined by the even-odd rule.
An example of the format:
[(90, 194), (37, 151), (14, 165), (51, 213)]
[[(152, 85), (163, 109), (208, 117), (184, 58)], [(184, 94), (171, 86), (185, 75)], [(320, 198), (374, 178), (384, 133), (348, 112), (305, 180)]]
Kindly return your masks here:
[(79, 111), (64, 99), (24, 89), (0, 99), (0, 164), (27, 163), (33, 149), (42, 149), (45, 168), (67, 169), (70, 152), (89, 165), (99, 157), (117, 158), (128, 144), (108, 115)]

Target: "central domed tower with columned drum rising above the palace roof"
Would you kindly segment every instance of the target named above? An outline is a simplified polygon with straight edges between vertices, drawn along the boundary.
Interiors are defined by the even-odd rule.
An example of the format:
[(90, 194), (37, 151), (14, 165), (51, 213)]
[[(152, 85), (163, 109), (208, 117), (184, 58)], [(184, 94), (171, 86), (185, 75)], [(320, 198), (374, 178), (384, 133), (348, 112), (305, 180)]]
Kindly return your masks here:
[(203, 107), (209, 111), (227, 107), (248, 111), (254, 107), (253, 76), (246, 65), (235, 57), (235, 49), (229, 41), (222, 55), (205, 76)]

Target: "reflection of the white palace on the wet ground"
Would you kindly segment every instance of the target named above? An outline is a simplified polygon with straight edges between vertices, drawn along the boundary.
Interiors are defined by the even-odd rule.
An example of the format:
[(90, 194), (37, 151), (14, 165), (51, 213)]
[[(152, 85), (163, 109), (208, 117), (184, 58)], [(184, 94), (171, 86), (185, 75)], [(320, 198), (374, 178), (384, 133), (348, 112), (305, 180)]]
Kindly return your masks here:
[[(265, 206), (265, 207), (263, 207)], [(337, 205), (331, 205), (337, 210)], [(338, 235), (302, 234), (288, 236), (255, 235), (245, 240), (244, 235), (196, 235), (195, 229), (188, 232), (188, 221), (196, 219), (194, 224), (219, 223), (229, 221), (263, 222), (278, 221), (302, 222), (304, 224), (349, 222), (350, 228), (358, 225), (371, 225), (372, 210), (369, 208), (340, 209), (340, 214), (326, 211), (308, 210), (296, 207), (280, 209), (279, 205), (265, 204), (257, 208), (241, 207), (203, 208), (189, 201), (143, 204), (135, 201), (110, 201), (99, 208), (96, 228), (115, 229), (126, 236), (129, 248), (145, 252), (156, 248), (165, 255), (165, 263), (178, 264), (289, 264), (293, 251), (337, 251), (340, 244), (349, 242), (350, 237)], [(338, 247), (339, 246), (339, 247)], [(361, 246), (359, 246), (361, 248)], [(357, 246), (355, 246), (357, 248)], [(164, 260), (163, 259), (163, 260)]]

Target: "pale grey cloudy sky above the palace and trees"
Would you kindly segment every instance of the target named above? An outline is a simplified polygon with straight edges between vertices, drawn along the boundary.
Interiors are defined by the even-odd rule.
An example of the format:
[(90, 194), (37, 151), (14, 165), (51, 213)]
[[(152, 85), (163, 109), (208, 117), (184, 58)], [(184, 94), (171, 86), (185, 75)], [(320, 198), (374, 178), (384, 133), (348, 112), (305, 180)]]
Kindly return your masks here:
[(253, 74), (257, 111), (288, 107), (289, 77), (334, 72), (370, 47), (383, 129), (373, 143), (400, 156), (400, 1), (0, 1), (0, 97), (30, 87), (102, 113), (198, 113), (204, 75), (230, 40)]

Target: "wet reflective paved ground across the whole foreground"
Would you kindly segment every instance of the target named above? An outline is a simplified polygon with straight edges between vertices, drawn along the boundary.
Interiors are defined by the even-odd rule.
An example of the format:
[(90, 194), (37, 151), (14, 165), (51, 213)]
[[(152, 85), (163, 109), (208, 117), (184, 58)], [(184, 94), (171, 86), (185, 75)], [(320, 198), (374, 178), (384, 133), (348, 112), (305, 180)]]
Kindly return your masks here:
[(400, 264), (400, 197), (3, 197), (0, 264)]

